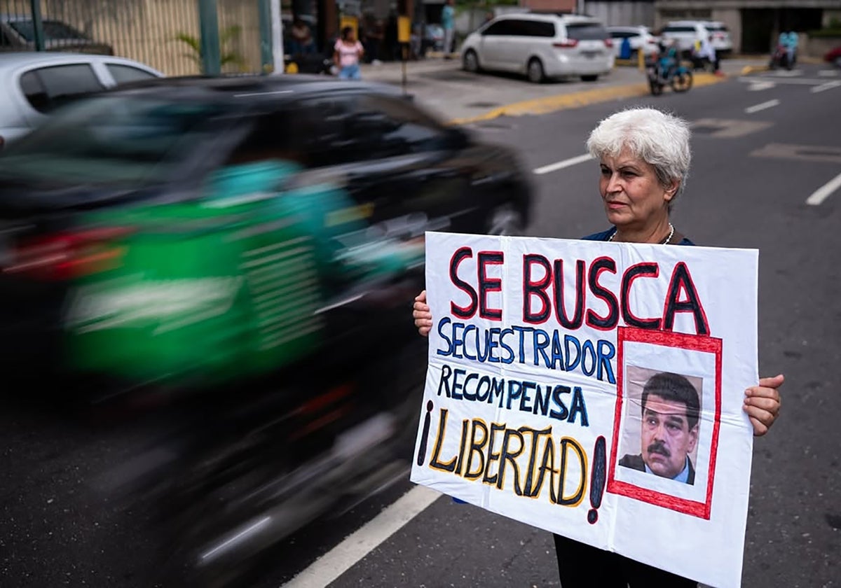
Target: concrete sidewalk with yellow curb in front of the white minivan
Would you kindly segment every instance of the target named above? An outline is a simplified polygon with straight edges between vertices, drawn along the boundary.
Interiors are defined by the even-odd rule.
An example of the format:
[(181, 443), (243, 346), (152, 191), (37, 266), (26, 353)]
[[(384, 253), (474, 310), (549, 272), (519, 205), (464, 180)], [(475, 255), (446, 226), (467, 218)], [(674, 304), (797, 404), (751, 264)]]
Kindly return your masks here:
[[(764, 58), (721, 61), (722, 76), (696, 72), (694, 87), (724, 81), (766, 68)], [(595, 102), (648, 94), (644, 71), (636, 66), (616, 66), (597, 81), (547, 81), (532, 84), (525, 77), (506, 74), (472, 74), (461, 69), (461, 59), (363, 64), (362, 79), (405, 87), (421, 105), (454, 124), (472, 123), (499, 116), (542, 114)], [(668, 90), (667, 90), (668, 92)]]

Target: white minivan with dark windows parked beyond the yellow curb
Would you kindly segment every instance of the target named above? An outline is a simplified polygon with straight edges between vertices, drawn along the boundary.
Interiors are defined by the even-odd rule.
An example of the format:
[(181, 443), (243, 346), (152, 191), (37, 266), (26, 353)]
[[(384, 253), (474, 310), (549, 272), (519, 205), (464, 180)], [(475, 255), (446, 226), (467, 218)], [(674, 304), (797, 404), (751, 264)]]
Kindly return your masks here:
[(535, 83), (569, 76), (595, 81), (613, 69), (615, 59), (600, 21), (571, 14), (505, 14), (468, 35), (462, 45), (466, 71), (510, 71)]

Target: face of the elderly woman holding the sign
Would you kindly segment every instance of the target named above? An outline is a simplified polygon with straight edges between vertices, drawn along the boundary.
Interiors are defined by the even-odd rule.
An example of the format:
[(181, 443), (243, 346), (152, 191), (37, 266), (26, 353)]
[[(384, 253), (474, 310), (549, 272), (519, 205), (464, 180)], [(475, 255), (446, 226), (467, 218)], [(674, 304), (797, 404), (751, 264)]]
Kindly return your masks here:
[(660, 184), (654, 166), (622, 150), (617, 157), (600, 161), (599, 192), (607, 220), (617, 228), (644, 229), (669, 218), (669, 201), (678, 182), (669, 188)]

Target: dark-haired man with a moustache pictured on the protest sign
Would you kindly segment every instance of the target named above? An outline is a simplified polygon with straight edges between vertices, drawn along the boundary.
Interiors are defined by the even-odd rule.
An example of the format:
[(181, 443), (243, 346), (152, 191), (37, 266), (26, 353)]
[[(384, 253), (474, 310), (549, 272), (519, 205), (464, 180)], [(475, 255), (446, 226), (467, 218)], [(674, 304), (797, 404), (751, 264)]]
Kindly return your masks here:
[(643, 386), (640, 454), (627, 454), (619, 465), (670, 480), (695, 484), (690, 454), (698, 443), (701, 400), (683, 375), (660, 372)]

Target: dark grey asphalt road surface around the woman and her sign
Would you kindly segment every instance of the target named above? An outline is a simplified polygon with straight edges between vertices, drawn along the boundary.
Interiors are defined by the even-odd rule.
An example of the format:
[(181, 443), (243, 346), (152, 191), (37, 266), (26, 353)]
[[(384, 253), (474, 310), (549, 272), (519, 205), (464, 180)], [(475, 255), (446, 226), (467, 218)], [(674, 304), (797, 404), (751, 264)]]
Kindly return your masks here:
[[(841, 397), (834, 372), (841, 363), (841, 189), (819, 205), (806, 203), (841, 174), (841, 87), (826, 87), (841, 76), (821, 70), (803, 66), (796, 76), (734, 78), (684, 95), (472, 127), (490, 141), (520, 146), (523, 164), (534, 170), (584, 154), (595, 123), (630, 103), (695, 123), (692, 172), (674, 224), (698, 244), (759, 249), (760, 372), (786, 376), (782, 417), (754, 444), (743, 570), (749, 587), (841, 585)], [(535, 174), (529, 234), (575, 238), (606, 228), (597, 173), (586, 161)], [(125, 426), (94, 435), (61, 419), (4, 409), (0, 585), (149, 585), (160, 556), (156, 538), (144, 532), (151, 514), (127, 509), (93, 484), (98, 472), (130, 454), (137, 434)], [(383, 525), (378, 515), (411, 488), (399, 482), (279, 545), (258, 588), (277, 588), (310, 564), (310, 571), (347, 566), (336, 587), (558, 585), (549, 533), (447, 497), (371, 543), (362, 559), (314, 564), (365, 523), (375, 532)]]

